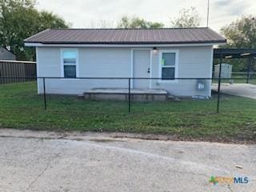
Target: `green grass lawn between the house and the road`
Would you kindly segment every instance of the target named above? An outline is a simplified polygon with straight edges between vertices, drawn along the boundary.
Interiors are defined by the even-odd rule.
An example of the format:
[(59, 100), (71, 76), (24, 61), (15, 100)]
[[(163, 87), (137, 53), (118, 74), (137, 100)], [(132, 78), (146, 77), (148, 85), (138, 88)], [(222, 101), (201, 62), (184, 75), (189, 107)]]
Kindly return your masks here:
[(0, 127), (31, 130), (118, 131), (172, 134), (178, 138), (256, 140), (256, 100), (222, 95), (181, 102), (85, 101), (71, 96), (43, 97), (35, 82), (0, 85)]

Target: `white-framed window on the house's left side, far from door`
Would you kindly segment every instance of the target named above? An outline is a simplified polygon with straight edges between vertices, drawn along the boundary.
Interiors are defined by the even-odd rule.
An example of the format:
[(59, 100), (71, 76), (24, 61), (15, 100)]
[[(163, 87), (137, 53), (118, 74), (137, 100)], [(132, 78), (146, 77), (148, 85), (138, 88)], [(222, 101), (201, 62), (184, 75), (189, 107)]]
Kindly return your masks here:
[(77, 50), (62, 50), (63, 77), (76, 78), (78, 51)]

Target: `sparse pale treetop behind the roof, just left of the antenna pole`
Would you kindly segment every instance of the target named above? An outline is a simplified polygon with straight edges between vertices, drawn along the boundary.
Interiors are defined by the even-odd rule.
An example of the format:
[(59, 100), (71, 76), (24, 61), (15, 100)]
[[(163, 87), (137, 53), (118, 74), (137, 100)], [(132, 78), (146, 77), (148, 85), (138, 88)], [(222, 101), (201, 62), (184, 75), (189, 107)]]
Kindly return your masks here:
[(186, 28), (196, 27), (200, 25), (201, 18), (195, 7), (191, 6), (190, 9), (182, 9), (179, 11), (179, 17), (171, 19), (173, 27)]

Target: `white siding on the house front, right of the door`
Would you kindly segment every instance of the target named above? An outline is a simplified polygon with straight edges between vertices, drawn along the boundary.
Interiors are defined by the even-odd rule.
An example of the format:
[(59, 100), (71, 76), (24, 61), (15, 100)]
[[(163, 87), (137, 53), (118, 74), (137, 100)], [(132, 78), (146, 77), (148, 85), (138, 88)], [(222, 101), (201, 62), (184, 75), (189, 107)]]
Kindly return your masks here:
[[(199, 47), (175, 47), (178, 50), (178, 76), (177, 78), (211, 78), (212, 69), (212, 46)], [(168, 49), (164, 49), (168, 50)], [(170, 50), (173, 50), (170, 47)], [(152, 68), (153, 78), (159, 77), (159, 50), (153, 54)], [(152, 88), (165, 89), (170, 94), (177, 96), (204, 95), (210, 96), (210, 80), (206, 80), (206, 90), (196, 89), (197, 80), (182, 80), (177, 82), (152, 81)]]

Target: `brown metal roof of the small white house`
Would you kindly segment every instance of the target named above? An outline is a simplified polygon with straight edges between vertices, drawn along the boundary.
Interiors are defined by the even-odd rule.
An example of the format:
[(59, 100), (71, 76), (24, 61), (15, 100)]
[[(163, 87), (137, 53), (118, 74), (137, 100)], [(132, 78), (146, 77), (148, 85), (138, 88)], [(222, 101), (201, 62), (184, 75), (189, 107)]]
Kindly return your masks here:
[(43, 44), (179, 44), (223, 43), (210, 28), (162, 29), (59, 29), (44, 30), (25, 42)]

